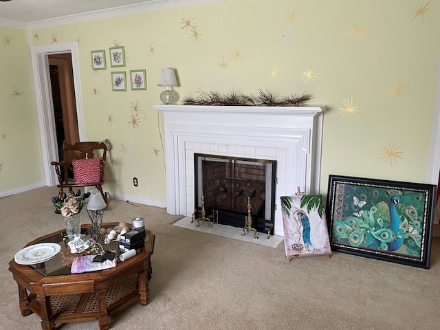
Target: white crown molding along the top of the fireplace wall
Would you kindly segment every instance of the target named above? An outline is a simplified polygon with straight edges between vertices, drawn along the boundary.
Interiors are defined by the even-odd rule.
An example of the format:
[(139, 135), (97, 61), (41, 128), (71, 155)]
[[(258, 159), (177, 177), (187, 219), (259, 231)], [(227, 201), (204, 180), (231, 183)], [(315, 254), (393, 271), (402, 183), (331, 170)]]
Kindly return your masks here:
[(30, 30), (52, 28), (59, 25), (94, 21), (97, 19), (109, 19), (124, 15), (139, 14), (140, 12), (152, 12), (155, 10), (178, 8), (184, 7), (186, 5), (200, 5), (219, 1), (225, 0), (151, 0), (143, 3), (135, 3), (133, 5), (122, 5), (115, 8), (94, 10), (92, 12), (85, 12), (82, 14), (73, 14), (64, 17), (57, 17), (55, 19), (35, 21), (31, 23), (26, 23), (25, 26)]

